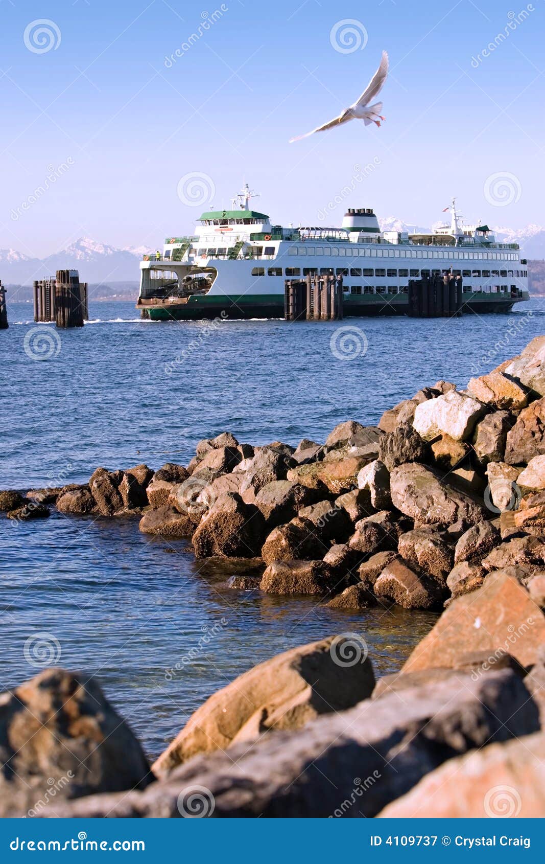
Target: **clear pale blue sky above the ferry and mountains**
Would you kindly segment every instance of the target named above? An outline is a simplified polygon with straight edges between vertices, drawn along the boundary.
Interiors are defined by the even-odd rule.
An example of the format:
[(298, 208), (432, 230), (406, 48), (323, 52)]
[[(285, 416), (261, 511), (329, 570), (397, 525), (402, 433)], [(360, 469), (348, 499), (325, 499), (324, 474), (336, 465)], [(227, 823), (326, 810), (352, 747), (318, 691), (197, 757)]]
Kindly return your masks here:
[[(41, 257), (82, 234), (158, 245), (200, 213), (177, 194), (190, 172), (212, 179), (215, 206), (244, 178), (273, 221), (320, 224), (353, 166), (373, 159), (321, 224), (337, 224), (345, 206), (373, 206), (429, 225), (453, 194), (468, 220), (545, 222), (542, 0), (299, 2), (227, 0), (222, 12), (215, 0), (1, 0), (0, 248)], [(527, 20), (479, 60), (521, 10)], [(47, 25), (57, 48), (31, 51), (25, 28), (42, 18), (60, 42)], [(333, 48), (345, 19), (359, 22), (362, 43), (365, 31), (363, 50)], [(358, 97), (383, 48), (383, 127), (354, 121), (288, 144)], [(513, 200), (495, 206), (484, 184), (506, 172)]]

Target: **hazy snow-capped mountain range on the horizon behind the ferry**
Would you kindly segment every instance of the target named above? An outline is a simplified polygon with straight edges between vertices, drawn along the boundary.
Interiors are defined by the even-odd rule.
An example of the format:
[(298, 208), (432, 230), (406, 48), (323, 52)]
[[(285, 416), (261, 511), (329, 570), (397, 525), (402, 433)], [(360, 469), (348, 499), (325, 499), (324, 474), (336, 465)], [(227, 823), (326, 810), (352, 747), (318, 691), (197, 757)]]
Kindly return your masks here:
[[(383, 231), (425, 232), (429, 229), (409, 225), (395, 216), (380, 220)], [(545, 258), (545, 227), (528, 225), (525, 228), (496, 227), (496, 238), (504, 243), (518, 243), (527, 258)], [(88, 283), (119, 283), (138, 281), (138, 262), (144, 253), (152, 251), (145, 246), (127, 246), (117, 249), (91, 238), (82, 237), (67, 249), (45, 258), (33, 258), (14, 249), (0, 249), (0, 279), (4, 285), (31, 285), (34, 279), (53, 276), (55, 270), (79, 270), (79, 276)]]

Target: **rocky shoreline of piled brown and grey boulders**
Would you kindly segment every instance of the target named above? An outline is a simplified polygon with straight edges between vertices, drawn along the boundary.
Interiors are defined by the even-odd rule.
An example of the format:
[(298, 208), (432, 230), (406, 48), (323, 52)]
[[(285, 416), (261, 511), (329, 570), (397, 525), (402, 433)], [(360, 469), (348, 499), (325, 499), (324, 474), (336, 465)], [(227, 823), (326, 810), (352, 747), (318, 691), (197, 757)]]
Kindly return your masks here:
[[(545, 336), (464, 391), (438, 381), (323, 444), (224, 432), (187, 467), (99, 467), (85, 485), (0, 492), (10, 519), (51, 506), (187, 538), (198, 559), (237, 565), (233, 591), (442, 614), (377, 682), (364, 634), (258, 665), (152, 767), (96, 683), (42, 672), (0, 697), (4, 815), (494, 816), (498, 783), (510, 815), (545, 815)], [(36, 811), (44, 778), (67, 772)]]

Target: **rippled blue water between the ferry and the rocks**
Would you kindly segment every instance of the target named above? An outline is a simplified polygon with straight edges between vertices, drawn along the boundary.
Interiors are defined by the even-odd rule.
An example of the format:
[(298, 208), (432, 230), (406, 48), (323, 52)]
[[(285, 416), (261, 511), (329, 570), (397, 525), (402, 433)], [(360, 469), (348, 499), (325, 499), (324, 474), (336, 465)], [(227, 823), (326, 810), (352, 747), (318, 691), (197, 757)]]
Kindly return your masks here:
[[(545, 332), (544, 309), (536, 299), (509, 316), (203, 327), (95, 302), (83, 330), (59, 333), (35, 325), (30, 304), (9, 302), (0, 488), (80, 482), (98, 465), (187, 464), (200, 438), (224, 430), (256, 444), (323, 441), (337, 422), (377, 422), (438, 378), (465, 385)], [(195, 562), (183, 540), (146, 537), (136, 520), (54, 511), (0, 526), (0, 686), (40, 670), (32, 648), (45, 632), (43, 662), (96, 676), (152, 757), (215, 689), (279, 651), (355, 631), (383, 674), (434, 622), (233, 592), (227, 568)]]

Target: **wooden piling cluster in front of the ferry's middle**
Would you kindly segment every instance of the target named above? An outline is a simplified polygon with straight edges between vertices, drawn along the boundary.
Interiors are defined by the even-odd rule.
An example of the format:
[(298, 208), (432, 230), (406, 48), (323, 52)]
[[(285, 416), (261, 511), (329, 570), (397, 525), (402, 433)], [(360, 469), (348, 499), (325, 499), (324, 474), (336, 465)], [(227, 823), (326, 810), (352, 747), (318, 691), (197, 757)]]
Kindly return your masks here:
[(306, 276), (286, 279), (286, 321), (337, 321), (343, 317), (343, 277)]

